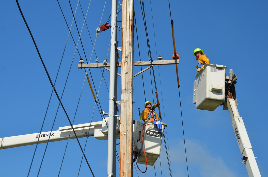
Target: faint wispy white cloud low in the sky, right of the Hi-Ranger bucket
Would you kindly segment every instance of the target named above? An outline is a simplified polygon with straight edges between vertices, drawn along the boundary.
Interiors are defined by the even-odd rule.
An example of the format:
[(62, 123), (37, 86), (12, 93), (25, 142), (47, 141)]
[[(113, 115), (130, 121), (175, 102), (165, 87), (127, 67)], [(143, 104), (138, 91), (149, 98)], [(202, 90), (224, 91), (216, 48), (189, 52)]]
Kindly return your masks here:
[[(236, 172), (230, 170), (224, 160), (219, 156), (212, 154), (205, 144), (198, 140), (186, 140), (186, 152), (189, 176), (204, 177), (235, 177)], [(184, 141), (169, 142), (170, 163), (173, 176), (188, 176), (185, 160)], [(161, 161), (168, 165), (165, 157), (165, 147), (162, 146)], [(163, 159), (163, 160), (162, 160)], [(161, 162), (163, 164), (163, 162)]]

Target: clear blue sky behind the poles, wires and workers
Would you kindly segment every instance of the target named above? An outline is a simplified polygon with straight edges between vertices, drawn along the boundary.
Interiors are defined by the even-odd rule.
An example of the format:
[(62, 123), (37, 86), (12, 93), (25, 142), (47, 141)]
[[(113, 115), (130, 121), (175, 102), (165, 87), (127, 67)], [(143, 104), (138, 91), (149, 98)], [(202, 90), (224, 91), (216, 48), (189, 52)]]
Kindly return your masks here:
[[(83, 87), (85, 71), (77, 69), (80, 57), (77, 52), (75, 53), (72, 39), (69, 38), (67, 41), (69, 30), (58, 3), (56, 1), (19, 1), (19, 3), (53, 82), (62, 58), (55, 84), (59, 95), (62, 95), (70, 69), (62, 98), (70, 119), (73, 120), (75, 117), (74, 124), (88, 123), (91, 119), (93, 122), (101, 121), (99, 110), (97, 108), (94, 110), (94, 99), (87, 82)], [(59, 3), (70, 26), (73, 17), (69, 2), (60, 1)], [(84, 14), (88, 3), (81, 1)], [(121, 4), (119, 1), (118, 3)], [(77, 1), (72, 1), (74, 11), (76, 5)], [(107, 60), (110, 61), (108, 49), (110, 30), (98, 35), (95, 44), (96, 55), (93, 52), (92, 57), (92, 43), (88, 34), (90, 33), (94, 42), (96, 28), (109, 18), (111, 8), (110, 1), (107, 1), (101, 19), (104, 5), (105, 1), (91, 1), (86, 19), (88, 30), (84, 26), (81, 36), (87, 60), (91, 60), (91, 63), (95, 62), (96, 56), (100, 63), (107, 55)], [(198, 110), (192, 103), (193, 81), (196, 74), (196, 61), (192, 53), (195, 48), (204, 50), (211, 64), (227, 66), (227, 70), (233, 69), (238, 77), (235, 85), (238, 110), (244, 120), (254, 155), (258, 157), (256, 161), (260, 173), (262, 176), (268, 176), (266, 170), (268, 165), (265, 159), (267, 151), (267, 141), (265, 141), (267, 136), (265, 113), (268, 66), (265, 58), (268, 48), (267, 1), (243, 1), (242, 3), (230, 0), (224, 2), (190, 0), (170, 1), (170, 5), (174, 20), (176, 50), (180, 54), (178, 74), (189, 176), (247, 176), (229, 112), (224, 111), (222, 106), (215, 111)], [(151, 4), (150, 1), (146, 1), (144, 6), (152, 59), (157, 60), (158, 55), (162, 55), (164, 60), (171, 60), (173, 43), (168, 1), (156, 0), (151, 1)], [(140, 9), (140, 2), (135, 1), (137, 20), (135, 30), (138, 32), (141, 60), (146, 61), (148, 52)], [(0, 26), (0, 137), (37, 133), (41, 129), (52, 88), (16, 1), (1, 1), (0, 15), (2, 17)], [(121, 20), (121, 13), (118, 14), (118, 20)], [(80, 7), (77, 10), (76, 21), (80, 32), (83, 25)], [(118, 26), (122, 26), (121, 22)], [(78, 33), (75, 26), (72, 27), (72, 34), (77, 43)], [(121, 31), (117, 33), (117, 36), (119, 46), (121, 46)], [(136, 36), (135, 33), (135, 38)], [(80, 43), (78, 50), (82, 58), (85, 58)], [(134, 61), (139, 61), (136, 39), (134, 51)], [(139, 67), (135, 67), (134, 73), (139, 70)], [(154, 72), (162, 119), (167, 124), (165, 132), (172, 176), (188, 176), (175, 66), (154, 66)], [(105, 80), (103, 79), (102, 82), (100, 82), (101, 69), (91, 69), (91, 73), (96, 90), (101, 85), (98, 96), (101, 109), (108, 112), (109, 72), (105, 70)], [(139, 120), (138, 108), (143, 109), (145, 100), (156, 102), (155, 86), (151, 86), (151, 78), (154, 77), (151, 74), (152, 70), (143, 73), (146, 99), (141, 75), (134, 78), (133, 119), (135, 120)], [(118, 79), (120, 82), (120, 78)], [(120, 83), (118, 85), (120, 91)], [(75, 116), (80, 93), (81, 99)], [(120, 97), (117, 100), (120, 101)], [(58, 100), (53, 93), (43, 132), (50, 131), (57, 107)], [(64, 112), (59, 108), (53, 130), (68, 125)], [(84, 147), (86, 138), (80, 138), (79, 141)], [(117, 142), (120, 141), (117, 140)], [(39, 176), (58, 175), (66, 143), (67, 141), (49, 143)], [(44, 148), (45, 144), (38, 145), (29, 176), (37, 176)], [(34, 149), (35, 145), (1, 150), (1, 176), (27, 176)], [(119, 145), (117, 145), (117, 152), (119, 154)], [(106, 140), (100, 141), (94, 137), (88, 137), (85, 155), (95, 176), (107, 175)], [(82, 154), (77, 141), (70, 140), (60, 176), (77, 176), (81, 158)], [(162, 144), (160, 158), (162, 171), (158, 159), (155, 168), (148, 166), (145, 174), (138, 170), (136, 172), (135, 164), (133, 176), (155, 176), (155, 171), (157, 176), (161, 176), (161, 173), (162, 176), (170, 176), (164, 144)], [(117, 167), (118, 176), (118, 162)], [(146, 168), (141, 164), (139, 167), (143, 171)], [(79, 175), (91, 175), (85, 160), (82, 162)]]

